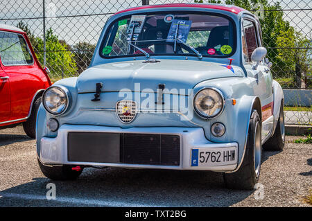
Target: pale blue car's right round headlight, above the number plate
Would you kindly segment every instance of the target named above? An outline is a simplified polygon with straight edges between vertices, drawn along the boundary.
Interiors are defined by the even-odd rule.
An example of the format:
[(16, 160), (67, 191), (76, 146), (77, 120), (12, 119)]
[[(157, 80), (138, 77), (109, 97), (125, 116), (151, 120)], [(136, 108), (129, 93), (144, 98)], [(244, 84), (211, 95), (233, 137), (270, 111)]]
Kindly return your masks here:
[(202, 89), (194, 98), (196, 112), (204, 118), (214, 118), (221, 114), (224, 98), (218, 89)]

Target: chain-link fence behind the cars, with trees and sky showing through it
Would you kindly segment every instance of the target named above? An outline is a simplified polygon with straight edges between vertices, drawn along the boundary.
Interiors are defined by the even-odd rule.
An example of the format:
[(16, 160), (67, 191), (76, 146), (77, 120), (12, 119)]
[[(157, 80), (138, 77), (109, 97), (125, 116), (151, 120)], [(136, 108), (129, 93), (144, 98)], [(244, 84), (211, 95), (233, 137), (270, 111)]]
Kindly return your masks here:
[[(3, 0), (0, 23), (28, 33), (37, 58), (55, 81), (78, 76), (88, 67), (105, 21), (115, 12), (142, 4), (194, 2), (227, 3), (256, 13), (275, 80), (284, 89), (312, 88), (310, 0)], [(298, 110), (289, 109), (286, 118)], [(300, 115), (298, 123), (311, 125), (311, 107), (303, 110), (299, 114), (308, 115)]]

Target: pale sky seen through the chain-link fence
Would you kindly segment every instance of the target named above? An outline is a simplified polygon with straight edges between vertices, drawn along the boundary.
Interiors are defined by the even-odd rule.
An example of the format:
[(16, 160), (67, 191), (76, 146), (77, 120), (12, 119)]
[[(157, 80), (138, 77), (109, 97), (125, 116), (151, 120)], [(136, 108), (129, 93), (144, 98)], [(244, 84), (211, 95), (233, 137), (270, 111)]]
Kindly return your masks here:
[[(46, 28), (52, 28), (68, 44), (89, 42), (96, 44), (105, 21), (112, 14), (125, 8), (141, 5), (141, 0), (1, 0), (0, 23), (16, 26), (19, 21), (24, 21), (37, 36), (43, 33), (43, 4), (45, 1)], [(268, 0), (277, 2), (276, 0)], [(150, 4), (193, 2), (193, 0), (150, 0)], [(286, 0), (280, 2), (284, 10), (284, 18), (302, 31), (306, 37), (312, 38), (312, 1), (311, 0)], [(289, 9), (310, 9), (290, 11)], [(97, 15), (101, 14), (101, 15)], [(91, 16), (77, 16), (91, 15)], [(69, 17), (67, 17), (69, 16)]]

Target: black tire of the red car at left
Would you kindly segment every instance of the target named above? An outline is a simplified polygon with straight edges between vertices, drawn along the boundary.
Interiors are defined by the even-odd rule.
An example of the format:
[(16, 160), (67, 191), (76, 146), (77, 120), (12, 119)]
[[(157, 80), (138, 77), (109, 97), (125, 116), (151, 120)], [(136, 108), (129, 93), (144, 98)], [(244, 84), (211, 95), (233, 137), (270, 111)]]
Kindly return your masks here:
[(36, 120), (37, 120), (37, 112), (40, 107), (42, 101), (42, 97), (37, 98), (33, 103), (33, 107), (31, 109), (31, 116), (23, 123), (23, 128), (25, 133), (31, 138), (36, 138)]

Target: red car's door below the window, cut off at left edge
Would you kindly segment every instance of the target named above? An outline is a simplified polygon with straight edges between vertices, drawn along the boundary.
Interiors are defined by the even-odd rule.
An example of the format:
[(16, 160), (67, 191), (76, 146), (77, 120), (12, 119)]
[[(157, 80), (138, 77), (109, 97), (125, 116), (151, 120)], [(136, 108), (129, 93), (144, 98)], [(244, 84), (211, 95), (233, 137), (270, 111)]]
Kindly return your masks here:
[[(0, 38), (1, 51), (1, 38)], [(1, 59), (1, 57), (0, 57)], [(10, 82), (0, 66), (0, 126), (10, 120)]]

